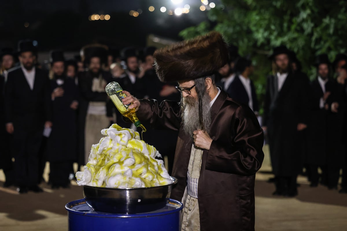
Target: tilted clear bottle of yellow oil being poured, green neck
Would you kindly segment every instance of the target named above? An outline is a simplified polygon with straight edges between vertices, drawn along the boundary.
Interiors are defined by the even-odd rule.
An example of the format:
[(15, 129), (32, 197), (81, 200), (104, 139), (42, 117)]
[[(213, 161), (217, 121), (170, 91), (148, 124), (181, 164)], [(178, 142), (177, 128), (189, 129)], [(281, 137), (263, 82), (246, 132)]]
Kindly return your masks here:
[(122, 116), (127, 117), (130, 119), (130, 121), (136, 126), (141, 127), (141, 139), (143, 139), (142, 134), (146, 132), (146, 128), (142, 125), (142, 123), (139, 121), (139, 119), (136, 116), (136, 109), (132, 108), (129, 109), (129, 105), (124, 105), (122, 99), (126, 97), (125, 93), (122, 92), (123, 89), (120, 87), (120, 85), (117, 82), (110, 82), (106, 88), (106, 93), (112, 100), (113, 104), (117, 107), (120, 114)]

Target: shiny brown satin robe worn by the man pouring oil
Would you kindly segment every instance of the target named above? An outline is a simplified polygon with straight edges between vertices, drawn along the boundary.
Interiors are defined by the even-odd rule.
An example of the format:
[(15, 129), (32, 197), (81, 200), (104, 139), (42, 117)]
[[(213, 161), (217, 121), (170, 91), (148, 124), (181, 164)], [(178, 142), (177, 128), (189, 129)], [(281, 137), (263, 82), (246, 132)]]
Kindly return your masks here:
[[(201, 231), (254, 230), (254, 181), (264, 153), (258, 120), (246, 105), (221, 91), (211, 107), (210, 150), (204, 150), (198, 184)], [(186, 187), (192, 140), (184, 134), (180, 106), (174, 101), (141, 100), (141, 121), (153, 128), (179, 130), (172, 176), (178, 183), (171, 198), (181, 201)], [(164, 154), (164, 153), (162, 153)]]

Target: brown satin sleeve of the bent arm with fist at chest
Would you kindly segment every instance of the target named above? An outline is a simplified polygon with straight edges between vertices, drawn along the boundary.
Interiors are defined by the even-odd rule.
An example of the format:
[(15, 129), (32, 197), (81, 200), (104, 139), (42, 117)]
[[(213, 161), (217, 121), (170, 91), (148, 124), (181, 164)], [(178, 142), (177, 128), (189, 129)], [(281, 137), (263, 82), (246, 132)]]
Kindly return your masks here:
[(244, 176), (253, 175), (264, 160), (263, 130), (255, 115), (243, 107), (237, 108), (230, 126), (230, 143), (212, 141), (206, 169)]

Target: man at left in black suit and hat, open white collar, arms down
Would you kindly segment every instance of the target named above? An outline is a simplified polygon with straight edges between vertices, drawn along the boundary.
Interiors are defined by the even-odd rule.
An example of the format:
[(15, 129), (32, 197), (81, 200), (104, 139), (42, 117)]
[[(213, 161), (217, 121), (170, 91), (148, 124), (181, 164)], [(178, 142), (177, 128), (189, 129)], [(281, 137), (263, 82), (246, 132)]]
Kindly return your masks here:
[(19, 42), (20, 67), (10, 71), (5, 87), (6, 130), (13, 134), (15, 181), (19, 193), (42, 192), (38, 184), (39, 149), (50, 122), (48, 76), (35, 68), (32, 41)]

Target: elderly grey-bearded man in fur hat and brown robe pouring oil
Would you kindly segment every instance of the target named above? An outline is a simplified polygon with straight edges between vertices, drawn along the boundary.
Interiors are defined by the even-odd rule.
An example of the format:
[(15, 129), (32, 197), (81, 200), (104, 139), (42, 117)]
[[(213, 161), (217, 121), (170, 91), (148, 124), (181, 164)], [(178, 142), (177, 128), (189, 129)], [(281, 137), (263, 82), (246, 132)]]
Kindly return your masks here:
[(228, 61), (217, 32), (154, 53), (161, 81), (178, 81), (181, 103), (123, 99), (142, 121), (179, 130), (171, 198), (182, 200), (182, 230), (254, 230), (254, 181), (264, 153), (263, 131), (252, 110), (214, 83)]

